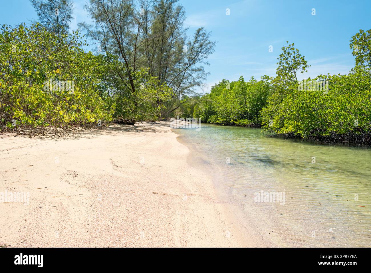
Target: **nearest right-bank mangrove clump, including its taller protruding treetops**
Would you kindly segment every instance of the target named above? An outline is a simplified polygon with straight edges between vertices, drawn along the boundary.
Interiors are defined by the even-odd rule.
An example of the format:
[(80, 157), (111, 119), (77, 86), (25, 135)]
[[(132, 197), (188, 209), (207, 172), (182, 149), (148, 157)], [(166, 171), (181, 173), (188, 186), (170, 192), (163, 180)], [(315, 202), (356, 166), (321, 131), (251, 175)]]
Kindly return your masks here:
[[(291, 46), (291, 52), (299, 54)], [(306, 72), (306, 61), (290, 58), (284, 47), (272, 94), (260, 112), (263, 128), (285, 137), (370, 144), (371, 31), (360, 30), (349, 47), (356, 66), (348, 75), (319, 75), (299, 82), (296, 73)]]

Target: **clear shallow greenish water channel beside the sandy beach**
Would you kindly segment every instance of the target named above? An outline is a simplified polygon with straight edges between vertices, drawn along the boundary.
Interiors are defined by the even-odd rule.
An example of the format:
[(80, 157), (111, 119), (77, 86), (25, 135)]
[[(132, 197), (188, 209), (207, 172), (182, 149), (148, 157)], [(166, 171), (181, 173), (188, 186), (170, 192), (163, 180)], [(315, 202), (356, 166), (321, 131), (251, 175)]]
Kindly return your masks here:
[[(270, 138), (236, 126), (173, 131), (273, 246), (371, 246), (370, 148)], [(262, 191), (284, 193), (285, 204), (256, 202)]]

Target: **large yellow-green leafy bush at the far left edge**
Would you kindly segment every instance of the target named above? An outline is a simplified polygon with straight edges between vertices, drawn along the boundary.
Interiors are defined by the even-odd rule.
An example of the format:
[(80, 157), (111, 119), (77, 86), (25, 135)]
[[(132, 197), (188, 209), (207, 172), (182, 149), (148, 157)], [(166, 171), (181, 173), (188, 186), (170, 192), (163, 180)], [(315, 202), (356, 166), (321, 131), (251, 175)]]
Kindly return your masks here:
[(39, 24), (0, 29), (1, 129), (111, 121), (114, 105), (96, 92), (96, 57), (79, 48), (79, 33), (61, 37)]

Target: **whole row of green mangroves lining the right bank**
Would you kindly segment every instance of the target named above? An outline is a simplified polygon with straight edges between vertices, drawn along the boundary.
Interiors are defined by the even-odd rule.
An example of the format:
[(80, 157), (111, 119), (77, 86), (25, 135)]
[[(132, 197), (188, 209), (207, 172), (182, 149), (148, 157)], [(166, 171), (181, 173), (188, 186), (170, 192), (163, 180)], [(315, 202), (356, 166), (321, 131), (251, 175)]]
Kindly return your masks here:
[(303, 85), (297, 77), (309, 65), (288, 43), (275, 78), (223, 79), (184, 113), (208, 123), (262, 126), (271, 135), (370, 144), (371, 30), (360, 30), (350, 42), (355, 68), (348, 75), (319, 75)]

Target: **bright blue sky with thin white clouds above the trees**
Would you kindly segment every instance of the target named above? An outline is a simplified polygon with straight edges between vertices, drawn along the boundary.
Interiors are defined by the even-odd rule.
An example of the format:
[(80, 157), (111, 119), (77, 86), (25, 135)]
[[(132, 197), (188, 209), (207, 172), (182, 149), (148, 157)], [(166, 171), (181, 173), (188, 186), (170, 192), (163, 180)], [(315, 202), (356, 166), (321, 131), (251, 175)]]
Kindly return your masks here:
[[(88, 21), (83, 9), (87, 0), (75, 0), (77, 23)], [(311, 67), (305, 78), (318, 74), (348, 73), (354, 65), (349, 49), (351, 36), (371, 29), (371, 1), (313, 0), (181, 0), (187, 12), (185, 27), (190, 34), (198, 27), (211, 31), (217, 41), (209, 57), (210, 87), (221, 79), (245, 80), (251, 76), (275, 76), (276, 58), (286, 41), (294, 42)], [(226, 15), (230, 9), (230, 15)], [(316, 15), (312, 15), (315, 9)], [(29, 0), (1, 0), (0, 24), (36, 19)], [(269, 52), (273, 46), (273, 52)], [(303, 78), (302, 76), (301, 78)]]

